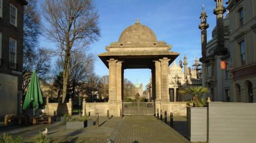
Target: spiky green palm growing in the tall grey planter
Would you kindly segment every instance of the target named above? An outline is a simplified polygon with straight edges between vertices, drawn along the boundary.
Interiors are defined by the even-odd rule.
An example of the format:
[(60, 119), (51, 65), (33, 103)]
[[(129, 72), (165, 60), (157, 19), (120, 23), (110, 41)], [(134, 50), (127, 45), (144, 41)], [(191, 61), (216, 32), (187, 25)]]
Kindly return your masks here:
[(198, 96), (209, 93), (209, 90), (202, 86), (189, 86), (186, 89), (181, 89), (180, 93), (193, 95), (193, 99), (189, 103), (193, 103), (195, 107), (203, 107), (205, 104), (204, 98), (198, 99)]

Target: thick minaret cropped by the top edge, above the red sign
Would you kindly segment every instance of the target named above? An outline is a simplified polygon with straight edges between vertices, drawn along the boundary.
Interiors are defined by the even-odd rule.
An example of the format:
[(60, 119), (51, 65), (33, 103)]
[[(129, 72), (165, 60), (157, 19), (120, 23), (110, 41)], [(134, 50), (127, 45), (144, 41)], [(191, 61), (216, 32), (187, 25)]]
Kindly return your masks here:
[(216, 9), (213, 11), (217, 15), (217, 49), (214, 50), (215, 54), (225, 54), (227, 48), (224, 47), (224, 24), (223, 13), (226, 12), (226, 8), (223, 7), (223, 0), (214, 0), (216, 2)]

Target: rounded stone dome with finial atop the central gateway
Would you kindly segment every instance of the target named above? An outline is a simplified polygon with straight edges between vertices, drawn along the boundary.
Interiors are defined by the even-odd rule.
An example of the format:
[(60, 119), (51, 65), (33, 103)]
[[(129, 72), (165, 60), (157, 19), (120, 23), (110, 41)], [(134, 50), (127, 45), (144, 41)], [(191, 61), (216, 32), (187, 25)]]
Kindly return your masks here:
[(157, 42), (155, 33), (140, 24), (139, 20), (134, 25), (127, 27), (121, 34), (118, 40), (119, 43), (148, 43)]

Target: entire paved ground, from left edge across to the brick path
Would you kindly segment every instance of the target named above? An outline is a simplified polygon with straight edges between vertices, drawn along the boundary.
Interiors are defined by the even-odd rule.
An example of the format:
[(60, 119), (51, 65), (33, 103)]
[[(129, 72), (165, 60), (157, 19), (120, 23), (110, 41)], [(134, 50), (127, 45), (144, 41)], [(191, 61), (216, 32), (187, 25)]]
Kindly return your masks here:
[(39, 131), (43, 131), (45, 128), (48, 129), (47, 137), (51, 139), (51, 142), (105, 143), (107, 139), (114, 140), (115, 143), (189, 142), (168, 124), (154, 116), (124, 116), (122, 120), (119, 117), (106, 120), (106, 117), (102, 116), (99, 128), (94, 126), (81, 130), (67, 130), (66, 124), (61, 122), (30, 127), (2, 126), (0, 127), (0, 136), (5, 132), (14, 137), (22, 136), (23, 141), (33, 142)]

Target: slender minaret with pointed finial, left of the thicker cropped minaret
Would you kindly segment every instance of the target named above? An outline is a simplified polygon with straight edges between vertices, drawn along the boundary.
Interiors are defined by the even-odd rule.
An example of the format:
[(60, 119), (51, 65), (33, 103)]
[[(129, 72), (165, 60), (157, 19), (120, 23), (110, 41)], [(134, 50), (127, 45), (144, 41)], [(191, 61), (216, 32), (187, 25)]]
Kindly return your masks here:
[(202, 58), (200, 61), (203, 61), (203, 58), (206, 56), (206, 46), (207, 46), (207, 28), (209, 28), (209, 24), (207, 23), (207, 15), (204, 10), (204, 5), (202, 9), (202, 13), (200, 16), (201, 23), (199, 25), (199, 29), (201, 29), (201, 42), (202, 42)]

